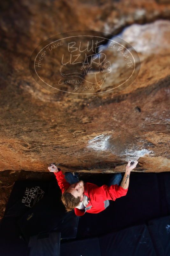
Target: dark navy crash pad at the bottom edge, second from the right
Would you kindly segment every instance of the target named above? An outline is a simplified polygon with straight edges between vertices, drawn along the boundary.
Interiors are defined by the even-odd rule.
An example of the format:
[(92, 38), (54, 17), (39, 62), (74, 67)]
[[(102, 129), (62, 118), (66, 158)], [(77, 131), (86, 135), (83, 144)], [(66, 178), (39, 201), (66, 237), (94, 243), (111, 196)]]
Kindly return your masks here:
[(146, 225), (105, 235), (99, 243), (102, 256), (157, 256)]

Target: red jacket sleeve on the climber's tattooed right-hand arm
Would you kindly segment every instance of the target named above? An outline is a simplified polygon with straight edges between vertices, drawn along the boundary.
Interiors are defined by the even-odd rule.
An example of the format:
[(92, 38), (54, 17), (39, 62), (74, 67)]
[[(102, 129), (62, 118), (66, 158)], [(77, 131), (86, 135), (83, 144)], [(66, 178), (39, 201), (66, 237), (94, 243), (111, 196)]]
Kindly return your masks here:
[(124, 189), (118, 185), (103, 185), (93, 190), (93, 196), (98, 200), (116, 200), (116, 198), (123, 197), (127, 194), (128, 188)]

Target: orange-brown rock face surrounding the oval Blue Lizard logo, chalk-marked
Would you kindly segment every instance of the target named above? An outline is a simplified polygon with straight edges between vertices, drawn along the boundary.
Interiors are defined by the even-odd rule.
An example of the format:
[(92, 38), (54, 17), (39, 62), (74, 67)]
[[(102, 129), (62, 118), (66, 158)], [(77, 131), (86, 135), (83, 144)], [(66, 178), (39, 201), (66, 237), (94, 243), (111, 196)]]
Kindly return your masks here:
[[(2, 10), (1, 171), (42, 172), (55, 162), (63, 171), (123, 172), (128, 159), (138, 160), (135, 171), (170, 171), (169, 4), (22, 1), (4, 2)], [(135, 81), (94, 99), (41, 87), (29, 71), (29, 57), (42, 41), (73, 30), (111, 33), (129, 43), (140, 58)], [(113, 75), (117, 81), (126, 76), (123, 62), (105, 51), (115, 66), (103, 90), (113, 86)], [(53, 66), (46, 71), (50, 79)]]

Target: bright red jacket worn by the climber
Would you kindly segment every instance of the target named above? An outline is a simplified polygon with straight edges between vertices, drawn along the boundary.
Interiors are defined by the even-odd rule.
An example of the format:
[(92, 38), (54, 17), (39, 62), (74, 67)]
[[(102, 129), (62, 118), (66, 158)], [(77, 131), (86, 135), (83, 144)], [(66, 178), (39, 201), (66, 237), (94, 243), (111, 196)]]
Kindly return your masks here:
[[(65, 175), (61, 171), (54, 174), (61, 192), (63, 193), (64, 190), (67, 190), (70, 184), (66, 181)], [(82, 216), (85, 212), (100, 213), (109, 206), (109, 200), (115, 201), (116, 198), (125, 196), (127, 191), (128, 189), (124, 189), (118, 185), (111, 185), (110, 187), (103, 185), (98, 187), (95, 184), (86, 182), (84, 183), (84, 195), (88, 197), (89, 204), (84, 210), (74, 208), (74, 212), (77, 216)]]

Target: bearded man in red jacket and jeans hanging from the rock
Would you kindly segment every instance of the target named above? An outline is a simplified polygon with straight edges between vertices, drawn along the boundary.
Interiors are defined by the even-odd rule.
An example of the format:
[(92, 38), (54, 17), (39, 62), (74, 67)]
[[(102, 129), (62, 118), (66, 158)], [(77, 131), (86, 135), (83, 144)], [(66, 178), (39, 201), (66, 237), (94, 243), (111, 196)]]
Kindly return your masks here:
[(66, 207), (67, 212), (72, 211), (77, 216), (82, 216), (84, 213), (100, 213), (109, 206), (109, 200), (116, 200), (125, 196), (129, 187), (129, 176), (138, 161), (128, 161), (125, 174), (121, 184), (119, 185), (122, 175), (114, 174), (108, 185), (98, 187), (95, 184), (79, 181), (78, 175), (66, 172), (63, 174), (60, 168), (54, 164), (48, 167), (50, 172), (53, 172), (58, 185), (61, 189), (61, 200)]

